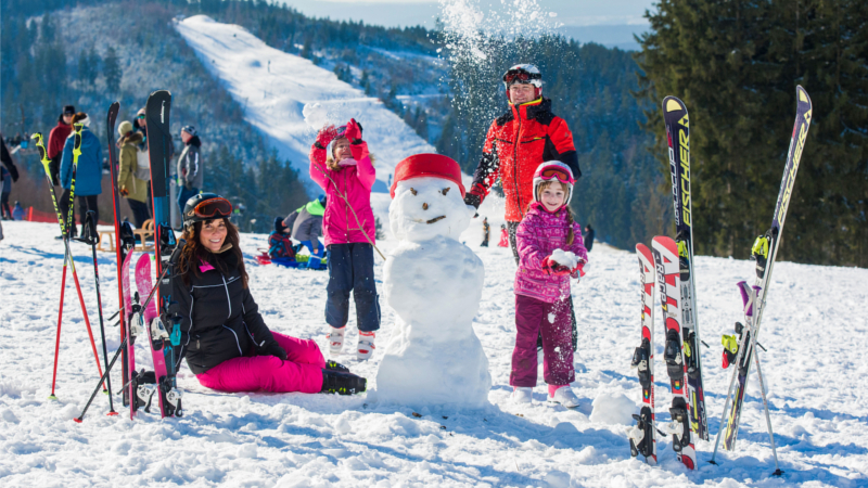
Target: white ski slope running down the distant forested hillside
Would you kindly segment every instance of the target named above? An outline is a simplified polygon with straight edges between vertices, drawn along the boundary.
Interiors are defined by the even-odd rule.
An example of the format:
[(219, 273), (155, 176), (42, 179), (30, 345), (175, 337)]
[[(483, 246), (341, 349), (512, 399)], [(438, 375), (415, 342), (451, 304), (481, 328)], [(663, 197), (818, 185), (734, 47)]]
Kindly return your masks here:
[(319, 103), (336, 125), (346, 124), (350, 117), (361, 123), (363, 138), (376, 156), (376, 178), (382, 182), (374, 191), (387, 191), (388, 176), (399, 160), (435, 152), (379, 99), (366, 97), (304, 57), (268, 47), (241, 26), (221, 24), (206, 15), (184, 18), (175, 26), (243, 107), (244, 119), (265, 136), (280, 157), (299, 170), (310, 188), (307, 154), (316, 130), (305, 123), (303, 110), (308, 103)]

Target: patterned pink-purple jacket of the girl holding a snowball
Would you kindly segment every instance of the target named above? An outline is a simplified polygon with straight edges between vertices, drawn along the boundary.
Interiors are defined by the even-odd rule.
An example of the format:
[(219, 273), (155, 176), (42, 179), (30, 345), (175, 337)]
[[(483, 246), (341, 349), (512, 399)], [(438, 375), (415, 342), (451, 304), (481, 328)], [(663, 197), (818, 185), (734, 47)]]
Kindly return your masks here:
[(519, 270), (515, 272), (515, 294), (529, 296), (548, 304), (570, 296), (570, 275), (558, 277), (542, 270), (542, 260), (554, 249), (573, 252), (588, 260), (582, 240), (582, 228), (573, 222), (573, 244), (566, 245), (566, 209), (549, 213), (541, 203), (531, 204), (519, 224), (516, 244)]

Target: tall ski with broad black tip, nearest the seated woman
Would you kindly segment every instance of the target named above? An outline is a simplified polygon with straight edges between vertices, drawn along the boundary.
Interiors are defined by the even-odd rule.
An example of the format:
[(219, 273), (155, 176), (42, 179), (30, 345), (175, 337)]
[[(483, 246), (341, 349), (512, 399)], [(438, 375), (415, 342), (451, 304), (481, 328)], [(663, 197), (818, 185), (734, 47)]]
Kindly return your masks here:
[(166, 90), (151, 93), (145, 104), (148, 120), (148, 151), (151, 163), (151, 194), (154, 205), (154, 247), (156, 272), (161, 279), (156, 283), (156, 308), (158, 316), (146, 323), (146, 332), (151, 341), (151, 354), (154, 359), (157, 399), (161, 414), (181, 416), (181, 391), (176, 387), (175, 375), (180, 358), (176, 358), (176, 348), (180, 349), (180, 314), (171, 300), (170, 261), (176, 248), (175, 233), (171, 229), (169, 198), (169, 154), (171, 138), (169, 136), (169, 113), (171, 94)]

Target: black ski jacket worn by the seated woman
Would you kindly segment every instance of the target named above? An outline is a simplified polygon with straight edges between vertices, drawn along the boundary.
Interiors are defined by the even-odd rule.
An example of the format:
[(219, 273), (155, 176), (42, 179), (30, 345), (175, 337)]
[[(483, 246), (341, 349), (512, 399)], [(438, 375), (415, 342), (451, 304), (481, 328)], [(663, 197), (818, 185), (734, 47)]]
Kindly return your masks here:
[[(178, 303), (181, 351), (194, 374), (202, 374), (232, 358), (257, 356), (277, 344), (259, 314), (259, 307), (245, 288), (233, 253), (215, 254), (231, 271), (224, 275), (209, 265), (200, 277), (189, 271), (190, 286), (180, 274), (173, 280), (171, 300)], [(208, 269), (210, 268), (210, 269)], [(180, 361), (180, 359), (179, 359)]]

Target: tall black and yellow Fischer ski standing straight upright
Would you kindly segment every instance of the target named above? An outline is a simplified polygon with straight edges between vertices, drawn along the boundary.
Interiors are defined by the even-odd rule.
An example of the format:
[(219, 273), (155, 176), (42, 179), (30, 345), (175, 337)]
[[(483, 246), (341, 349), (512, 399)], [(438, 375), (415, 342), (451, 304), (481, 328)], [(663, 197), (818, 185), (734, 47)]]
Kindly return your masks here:
[(709, 440), (705, 388), (702, 383), (702, 351), (697, 319), (697, 285), (693, 274), (693, 207), (690, 198), (690, 124), (687, 107), (675, 97), (663, 99), (663, 120), (669, 146), (672, 196), (675, 204), (675, 242), (681, 282), (681, 334), (690, 398), (690, 429)]

